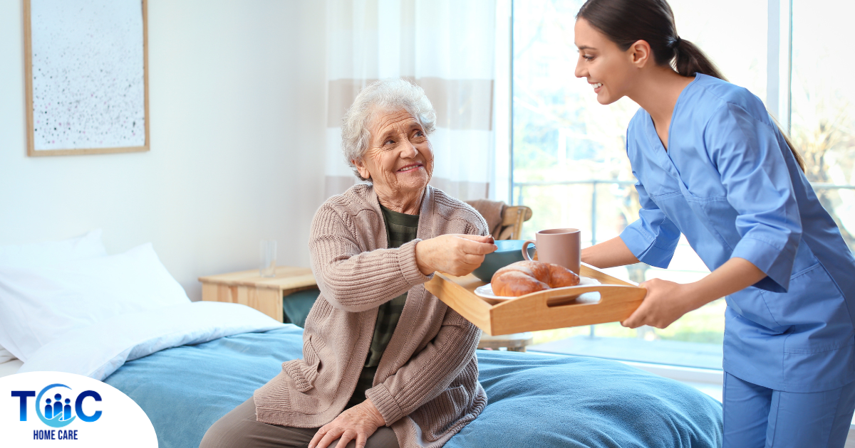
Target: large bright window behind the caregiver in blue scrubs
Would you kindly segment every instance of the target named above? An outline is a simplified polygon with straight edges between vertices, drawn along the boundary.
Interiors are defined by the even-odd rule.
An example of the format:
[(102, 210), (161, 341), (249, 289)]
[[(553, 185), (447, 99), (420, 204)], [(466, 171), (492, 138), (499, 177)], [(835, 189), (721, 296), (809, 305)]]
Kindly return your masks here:
[[(789, 49), (792, 41), (792, 85), (801, 87), (793, 87), (792, 108), (784, 102), (773, 114), (788, 124), (792, 112), (793, 139), (805, 148), (813, 173), (809, 178), (845, 230), (847, 223), (855, 225), (855, 189), (846, 187), (855, 182), (855, 84), (846, 82), (851, 73), (842, 65), (850, 63), (842, 56), (846, 39), (837, 32), (846, 29), (845, 18), (852, 15), (841, 11), (829, 19), (828, 8), (816, 2), (793, 1), (792, 39), (788, 4), (781, 10), (773, 10), (768, 2), (742, 0), (670, 4), (681, 38), (704, 49), (732, 83), (764, 100), (788, 91), (789, 61), (781, 63), (779, 50)], [(582, 3), (512, 3), (510, 191), (513, 203), (534, 210), (523, 237), (532, 238), (540, 229), (577, 227), (587, 246), (618, 236), (638, 218), (640, 206), (624, 149), (626, 127), (638, 105), (628, 98), (600, 105), (585, 80), (575, 78), (573, 26)], [(845, 8), (855, 12), (855, 7)], [(780, 18), (784, 26), (774, 21)], [(834, 20), (840, 23), (831, 23)], [(855, 235), (855, 228), (850, 229)], [(852, 238), (847, 241), (852, 246)], [(612, 271), (636, 282), (654, 277), (693, 282), (709, 273), (685, 239), (667, 271), (644, 264)], [(608, 323), (537, 332), (533, 349), (720, 369), (725, 306), (716, 300), (664, 330)]]

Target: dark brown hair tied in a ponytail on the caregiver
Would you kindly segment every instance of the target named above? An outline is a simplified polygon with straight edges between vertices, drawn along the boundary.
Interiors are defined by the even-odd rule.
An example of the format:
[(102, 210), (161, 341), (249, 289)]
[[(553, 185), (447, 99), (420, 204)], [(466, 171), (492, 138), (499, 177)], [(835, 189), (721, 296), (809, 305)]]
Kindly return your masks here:
[[(682, 76), (693, 77), (695, 73), (703, 73), (727, 81), (697, 45), (680, 38), (674, 12), (666, 0), (587, 0), (576, 14), (576, 19), (585, 19), (617, 44), (621, 51), (643, 40), (650, 45), (653, 59), (659, 66), (669, 66)], [(780, 125), (778, 130), (781, 131)], [(781, 135), (793, 151), (802, 172), (805, 172), (805, 160), (787, 134), (781, 131)]]

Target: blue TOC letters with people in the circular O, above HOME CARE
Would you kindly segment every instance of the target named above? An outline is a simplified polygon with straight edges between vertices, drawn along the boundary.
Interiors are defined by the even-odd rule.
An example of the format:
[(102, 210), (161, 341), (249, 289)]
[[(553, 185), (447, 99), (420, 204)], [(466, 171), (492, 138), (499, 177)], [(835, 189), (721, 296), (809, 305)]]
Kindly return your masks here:
[[(62, 390), (63, 387), (68, 391)], [(48, 392), (52, 392), (52, 394)], [(63, 393), (65, 393), (64, 397)], [(55, 383), (44, 387), (38, 396), (36, 396), (35, 391), (12, 391), (12, 397), (17, 397), (20, 400), (21, 422), (27, 422), (27, 401), (31, 397), (36, 397), (34, 406), (38, 419), (50, 428), (62, 428), (74, 422), (76, 418), (80, 418), (83, 422), (95, 422), (101, 418), (101, 410), (96, 410), (91, 414), (86, 414), (83, 410), (85, 399), (101, 401), (101, 395), (95, 391), (84, 391), (72, 399), (71, 387)]]

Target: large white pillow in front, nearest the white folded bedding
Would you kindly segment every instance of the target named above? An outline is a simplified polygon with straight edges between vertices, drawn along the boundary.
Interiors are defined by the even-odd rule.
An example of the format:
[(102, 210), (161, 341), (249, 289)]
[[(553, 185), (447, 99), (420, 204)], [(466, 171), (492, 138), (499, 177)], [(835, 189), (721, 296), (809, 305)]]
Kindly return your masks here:
[(26, 363), (69, 330), (189, 301), (150, 243), (65, 265), (0, 266), (0, 345)]

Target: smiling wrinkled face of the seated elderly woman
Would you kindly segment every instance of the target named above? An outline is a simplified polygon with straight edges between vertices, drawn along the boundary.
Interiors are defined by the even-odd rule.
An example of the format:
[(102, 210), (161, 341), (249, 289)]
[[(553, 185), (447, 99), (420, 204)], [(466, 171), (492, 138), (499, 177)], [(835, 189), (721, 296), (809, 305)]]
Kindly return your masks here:
[(421, 197), (433, 174), (433, 148), (422, 125), (401, 109), (377, 113), (369, 131), (363, 160), (353, 160), (359, 174), (370, 178), (377, 194), (387, 199)]

